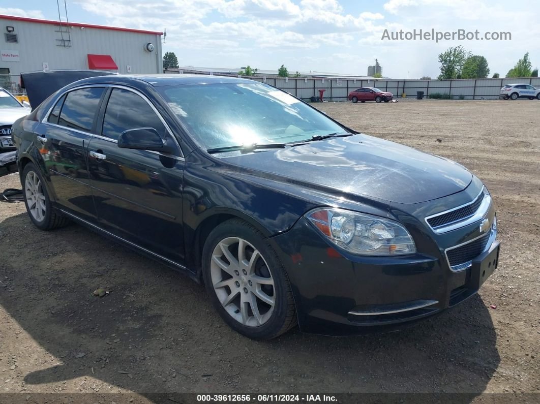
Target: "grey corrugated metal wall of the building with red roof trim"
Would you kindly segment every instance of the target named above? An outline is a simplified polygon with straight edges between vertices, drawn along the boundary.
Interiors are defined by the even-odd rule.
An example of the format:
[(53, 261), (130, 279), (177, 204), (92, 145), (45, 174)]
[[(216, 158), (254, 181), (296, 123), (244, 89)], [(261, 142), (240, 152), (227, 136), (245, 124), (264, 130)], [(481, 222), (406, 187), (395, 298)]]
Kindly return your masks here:
[[(87, 54), (109, 54), (118, 66), (118, 73), (163, 73), (163, 56), (159, 35), (106, 29), (69, 28), (71, 47), (57, 46), (60, 39), (58, 26), (51, 24), (0, 19), (0, 31), (5, 26), (14, 26), (18, 43), (5, 42), (0, 37), (0, 50), (19, 51), (20, 61), (3, 61), (0, 67), (7, 67), (10, 74), (43, 70), (43, 62), (50, 70), (88, 69)], [(63, 25), (64, 30), (66, 26)], [(68, 36), (64, 33), (64, 38)], [(153, 52), (144, 50), (144, 45), (152, 43)]]

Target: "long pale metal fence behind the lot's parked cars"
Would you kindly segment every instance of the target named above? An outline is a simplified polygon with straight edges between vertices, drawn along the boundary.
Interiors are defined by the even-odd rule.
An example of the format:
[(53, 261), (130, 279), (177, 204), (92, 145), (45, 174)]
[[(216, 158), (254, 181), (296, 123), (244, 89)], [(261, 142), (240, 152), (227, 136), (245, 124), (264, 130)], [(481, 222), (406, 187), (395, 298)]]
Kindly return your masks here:
[(423, 91), (429, 98), (433, 93), (449, 94), (452, 99), (498, 99), (501, 87), (507, 84), (530, 84), (540, 87), (540, 78), (502, 78), (502, 79), (467, 79), (467, 80), (366, 80), (366, 79), (314, 79), (314, 78), (264, 78), (245, 77), (264, 81), (302, 99), (319, 97), (319, 90), (325, 90), (323, 99), (327, 101), (345, 101), (350, 91), (360, 87), (377, 87), (382, 91), (392, 92), (395, 96), (416, 97), (417, 91)]

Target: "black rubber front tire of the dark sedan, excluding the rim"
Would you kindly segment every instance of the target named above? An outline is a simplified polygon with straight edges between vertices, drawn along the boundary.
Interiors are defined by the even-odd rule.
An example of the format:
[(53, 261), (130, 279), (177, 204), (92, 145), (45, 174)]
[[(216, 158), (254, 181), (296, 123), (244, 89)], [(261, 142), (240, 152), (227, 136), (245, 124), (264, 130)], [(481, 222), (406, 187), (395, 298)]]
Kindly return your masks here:
[[(212, 283), (211, 259), (217, 245), (228, 237), (239, 237), (252, 244), (268, 265), (274, 282), (275, 303), (268, 320), (260, 326), (247, 326), (234, 319), (221, 304)], [(278, 255), (264, 235), (251, 224), (239, 219), (228, 220), (212, 230), (203, 248), (203, 278), (206, 291), (215, 310), (233, 330), (252, 339), (271, 339), (287, 332), (298, 324), (291, 285)], [(241, 293), (241, 292), (240, 292)], [(232, 295), (232, 293), (231, 293)]]

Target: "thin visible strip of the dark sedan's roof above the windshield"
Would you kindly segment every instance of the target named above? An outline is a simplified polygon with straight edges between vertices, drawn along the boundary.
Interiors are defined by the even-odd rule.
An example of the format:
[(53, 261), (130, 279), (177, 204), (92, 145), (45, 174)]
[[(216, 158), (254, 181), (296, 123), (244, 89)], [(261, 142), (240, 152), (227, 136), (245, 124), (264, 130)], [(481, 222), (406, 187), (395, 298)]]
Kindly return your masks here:
[(253, 84), (258, 81), (228, 76), (210, 76), (208, 74), (114, 74), (111, 76), (97, 76), (78, 80), (77, 85), (84, 84), (130, 84), (145, 82), (154, 87), (174, 85), (202, 85), (202, 84)]

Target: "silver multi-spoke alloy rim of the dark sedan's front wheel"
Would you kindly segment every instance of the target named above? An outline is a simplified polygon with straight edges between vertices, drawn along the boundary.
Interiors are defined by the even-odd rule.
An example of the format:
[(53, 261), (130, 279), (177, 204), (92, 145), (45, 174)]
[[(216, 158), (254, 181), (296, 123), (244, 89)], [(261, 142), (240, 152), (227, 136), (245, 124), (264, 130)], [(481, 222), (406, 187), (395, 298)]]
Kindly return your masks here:
[(221, 305), (239, 323), (265, 324), (275, 305), (272, 273), (261, 253), (239, 237), (222, 239), (210, 261), (212, 286)]

